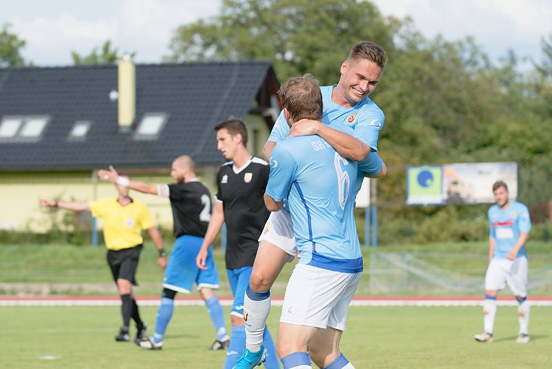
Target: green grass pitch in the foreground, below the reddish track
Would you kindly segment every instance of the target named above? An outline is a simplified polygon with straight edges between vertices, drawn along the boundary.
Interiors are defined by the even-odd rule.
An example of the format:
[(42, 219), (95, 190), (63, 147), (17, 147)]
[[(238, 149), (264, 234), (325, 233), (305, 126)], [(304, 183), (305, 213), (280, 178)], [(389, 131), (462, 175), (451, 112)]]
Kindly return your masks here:
[[(142, 308), (150, 326), (155, 312)], [(274, 335), (279, 312), (270, 314)], [(3, 307), (0, 316), (1, 368), (222, 368), (225, 358), (206, 350), (214, 331), (202, 307), (175, 309), (161, 351), (115, 342), (115, 306)], [(493, 343), (473, 340), (481, 308), (351, 307), (342, 350), (357, 369), (549, 368), (552, 308), (531, 310), (530, 343), (515, 343), (517, 328), (513, 307), (498, 308)]]

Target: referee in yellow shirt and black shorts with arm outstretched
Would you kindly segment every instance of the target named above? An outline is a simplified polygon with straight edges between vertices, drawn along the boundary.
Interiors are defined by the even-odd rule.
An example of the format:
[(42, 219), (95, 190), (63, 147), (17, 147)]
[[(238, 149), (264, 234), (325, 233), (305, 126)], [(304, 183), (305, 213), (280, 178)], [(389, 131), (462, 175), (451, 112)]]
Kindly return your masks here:
[[(128, 176), (121, 176), (121, 178), (129, 180)], [(148, 229), (150, 237), (157, 247), (159, 252), (157, 264), (161, 269), (165, 269), (167, 259), (164, 256), (165, 250), (161, 236), (153, 225), (146, 205), (130, 198), (128, 187), (124, 184), (116, 184), (115, 189), (117, 189), (117, 198), (105, 198), (90, 202), (41, 199), (40, 205), (73, 211), (91, 211), (92, 216), (103, 218), (103, 239), (108, 249), (107, 261), (121, 296), (123, 325), (115, 337), (115, 341), (130, 341), (128, 325), (132, 316), (137, 328), (135, 343), (139, 345), (140, 341), (147, 337), (148, 327), (140, 318), (138, 305), (132, 298), (132, 285), (138, 285), (135, 274), (144, 243), (144, 238), (141, 235), (143, 229)]]

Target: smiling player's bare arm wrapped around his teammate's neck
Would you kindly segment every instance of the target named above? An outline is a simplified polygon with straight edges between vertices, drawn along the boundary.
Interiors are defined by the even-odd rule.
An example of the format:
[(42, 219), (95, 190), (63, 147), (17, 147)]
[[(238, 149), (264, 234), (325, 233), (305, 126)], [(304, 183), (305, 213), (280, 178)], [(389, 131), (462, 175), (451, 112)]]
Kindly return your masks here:
[(358, 162), (364, 160), (371, 151), (370, 146), (367, 144), (317, 120), (302, 119), (291, 126), (291, 137), (302, 135), (319, 135), (324, 138), (339, 155)]

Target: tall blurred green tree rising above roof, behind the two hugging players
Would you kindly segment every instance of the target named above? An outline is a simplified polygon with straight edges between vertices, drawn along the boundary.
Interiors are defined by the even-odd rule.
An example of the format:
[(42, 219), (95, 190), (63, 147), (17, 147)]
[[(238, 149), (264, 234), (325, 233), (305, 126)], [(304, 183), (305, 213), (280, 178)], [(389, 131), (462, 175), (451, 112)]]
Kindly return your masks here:
[(176, 30), (166, 59), (270, 59), (281, 79), (308, 72), (327, 84), (359, 40), (390, 53), (399, 26), (369, 1), (224, 0), (213, 19)]

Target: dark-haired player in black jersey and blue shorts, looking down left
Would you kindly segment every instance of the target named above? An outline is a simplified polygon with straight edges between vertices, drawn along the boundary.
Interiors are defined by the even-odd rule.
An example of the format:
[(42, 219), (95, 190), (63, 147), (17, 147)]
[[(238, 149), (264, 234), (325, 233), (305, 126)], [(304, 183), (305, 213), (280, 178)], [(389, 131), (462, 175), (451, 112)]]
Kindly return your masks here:
[[(245, 124), (230, 118), (215, 127), (217, 148), (224, 158), (231, 160), (222, 164), (217, 174), (217, 196), (213, 216), (196, 263), (208, 269), (208, 249), (226, 220), (226, 274), (234, 295), (230, 312), (232, 333), (224, 368), (233, 368), (245, 346), (244, 295), (249, 282), (253, 261), (259, 247), (259, 235), (268, 218), (263, 195), (270, 168), (262, 159), (255, 158), (246, 149)], [(266, 367), (279, 368), (274, 343), (268, 330), (264, 331), (268, 350)]]

